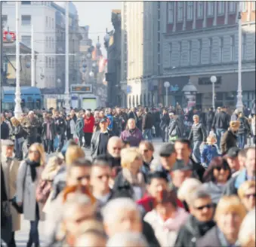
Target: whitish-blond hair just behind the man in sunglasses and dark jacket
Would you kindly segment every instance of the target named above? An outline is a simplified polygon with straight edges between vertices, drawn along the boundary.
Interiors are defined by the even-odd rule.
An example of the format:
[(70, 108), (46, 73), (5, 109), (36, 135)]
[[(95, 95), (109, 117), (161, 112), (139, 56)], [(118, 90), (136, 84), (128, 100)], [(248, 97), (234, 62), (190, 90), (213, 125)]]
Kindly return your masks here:
[(181, 201), (187, 201), (188, 194), (199, 188), (201, 181), (196, 178), (187, 178), (177, 191), (177, 198)]

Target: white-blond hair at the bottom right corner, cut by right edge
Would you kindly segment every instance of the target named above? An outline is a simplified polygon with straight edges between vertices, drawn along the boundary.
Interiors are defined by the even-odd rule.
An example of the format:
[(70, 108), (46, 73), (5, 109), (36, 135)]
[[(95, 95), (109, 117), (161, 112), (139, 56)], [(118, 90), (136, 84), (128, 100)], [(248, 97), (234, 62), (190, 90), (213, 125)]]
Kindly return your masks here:
[(247, 246), (251, 238), (255, 239), (255, 209), (248, 212), (243, 219), (238, 236), (242, 246)]

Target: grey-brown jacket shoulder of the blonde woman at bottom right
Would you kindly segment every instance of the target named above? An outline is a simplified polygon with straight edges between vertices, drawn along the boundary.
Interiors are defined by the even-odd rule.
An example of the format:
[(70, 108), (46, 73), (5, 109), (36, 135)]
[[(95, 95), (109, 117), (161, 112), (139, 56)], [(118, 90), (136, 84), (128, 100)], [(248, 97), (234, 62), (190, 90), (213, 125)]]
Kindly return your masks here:
[(204, 236), (200, 237), (196, 241), (196, 247), (216, 247), (223, 246), (217, 234), (217, 226), (208, 230)]

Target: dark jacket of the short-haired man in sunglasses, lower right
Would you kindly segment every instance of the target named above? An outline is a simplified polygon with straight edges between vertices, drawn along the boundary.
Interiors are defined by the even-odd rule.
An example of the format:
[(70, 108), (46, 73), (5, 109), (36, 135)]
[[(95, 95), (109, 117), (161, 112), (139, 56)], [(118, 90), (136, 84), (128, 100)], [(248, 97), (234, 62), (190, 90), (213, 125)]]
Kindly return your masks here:
[(200, 227), (199, 221), (197, 221), (193, 215), (190, 215), (187, 219), (187, 223), (184, 224), (183, 227), (180, 227), (175, 247), (196, 246), (196, 240), (204, 236), (212, 227), (214, 227), (214, 221), (209, 221), (208, 223), (205, 223), (205, 227)]

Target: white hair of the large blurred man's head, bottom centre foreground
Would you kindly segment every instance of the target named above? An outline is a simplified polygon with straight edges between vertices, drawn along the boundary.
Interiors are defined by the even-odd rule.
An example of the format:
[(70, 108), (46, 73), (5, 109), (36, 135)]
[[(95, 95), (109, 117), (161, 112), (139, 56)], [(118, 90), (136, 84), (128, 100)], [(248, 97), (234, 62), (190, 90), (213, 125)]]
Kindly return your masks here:
[(117, 198), (110, 200), (101, 210), (104, 223), (111, 224), (111, 222), (116, 221), (118, 215), (116, 212), (119, 212), (122, 209), (126, 209), (126, 211), (134, 211), (140, 215), (138, 206), (133, 200), (130, 198)]

